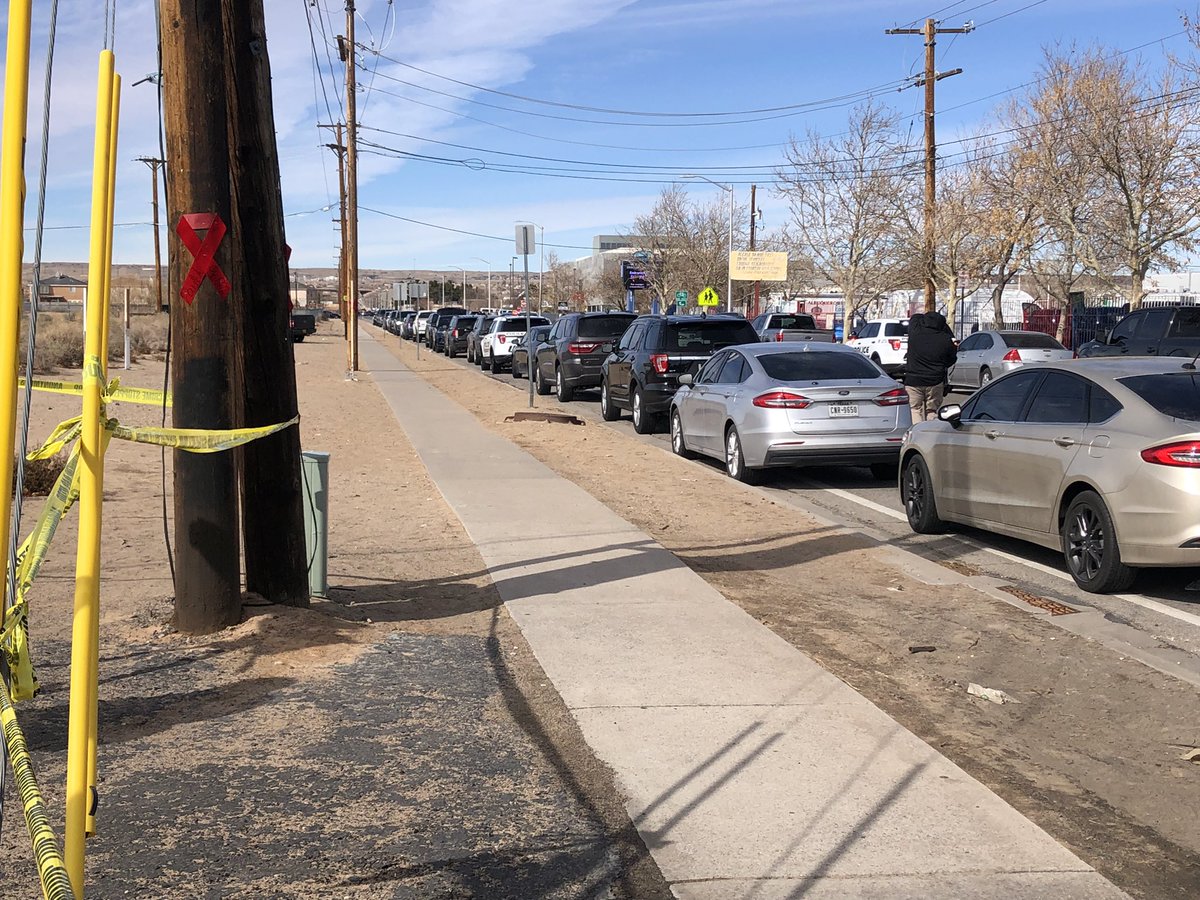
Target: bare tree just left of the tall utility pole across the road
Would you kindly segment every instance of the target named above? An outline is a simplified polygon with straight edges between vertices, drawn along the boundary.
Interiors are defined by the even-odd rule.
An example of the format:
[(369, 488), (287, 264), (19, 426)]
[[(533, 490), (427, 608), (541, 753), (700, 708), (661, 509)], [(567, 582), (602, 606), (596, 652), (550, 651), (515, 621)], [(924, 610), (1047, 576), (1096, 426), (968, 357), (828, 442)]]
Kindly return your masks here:
[(851, 113), (844, 134), (793, 138), (785, 157), (778, 175), (792, 212), (792, 251), (841, 290), (848, 322), (901, 277), (895, 216), (916, 181), (898, 116), (868, 102)]

